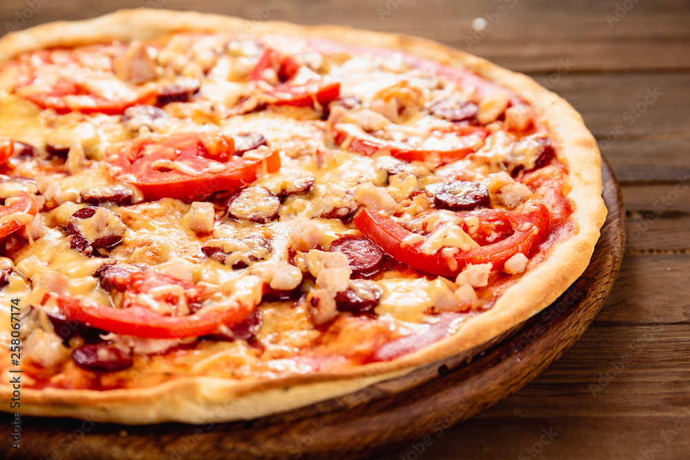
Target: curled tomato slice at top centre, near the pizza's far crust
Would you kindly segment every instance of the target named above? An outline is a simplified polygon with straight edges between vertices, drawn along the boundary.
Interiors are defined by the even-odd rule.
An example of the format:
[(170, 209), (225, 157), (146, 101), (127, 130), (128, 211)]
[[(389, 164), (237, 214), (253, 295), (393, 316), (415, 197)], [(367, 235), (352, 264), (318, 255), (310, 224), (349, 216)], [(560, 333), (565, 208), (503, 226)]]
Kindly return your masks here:
[[(275, 72), (279, 83), (266, 90), (270, 102), (277, 106), (327, 106), (340, 95), (340, 83), (326, 81), (295, 58), (270, 48), (264, 50), (259, 62), (249, 74), (250, 81), (268, 81), (268, 73)], [(302, 72), (302, 75), (299, 73)]]

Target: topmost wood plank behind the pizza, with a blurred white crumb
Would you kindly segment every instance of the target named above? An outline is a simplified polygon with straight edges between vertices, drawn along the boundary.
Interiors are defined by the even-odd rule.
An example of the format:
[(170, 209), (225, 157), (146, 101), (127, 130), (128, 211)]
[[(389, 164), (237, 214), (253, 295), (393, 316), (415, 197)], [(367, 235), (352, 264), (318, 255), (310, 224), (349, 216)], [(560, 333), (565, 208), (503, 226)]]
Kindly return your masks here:
[[(461, 50), (473, 52), (502, 66), (522, 72), (553, 72), (561, 59), (575, 62), (575, 72), (591, 70), (662, 70), (687, 69), (690, 66), (690, 36), (687, 23), (690, 12), (678, 1), (638, 3), (609, 23), (615, 16), (610, 1), (589, 1), (586, 8), (571, 2), (388, 2), (364, 0), (342, 2), (328, 0), (313, 8), (306, 1), (282, 0), (278, 8), (267, 10), (263, 3), (216, 2), (197, 0), (193, 8), (246, 18), (293, 21), (296, 23), (341, 23), (386, 32), (426, 37)], [(186, 10), (184, 0), (121, 0), (118, 8), (160, 5)], [(59, 19), (75, 20), (110, 12), (109, 3), (68, 0), (46, 2), (32, 13), (24, 0), (6, 0), (0, 5), (0, 17), (19, 28)], [(499, 10), (505, 8), (505, 10)], [(28, 20), (21, 14), (29, 12)], [(19, 14), (19, 16), (17, 16)], [(259, 16), (257, 16), (259, 14)], [(499, 14), (503, 14), (499, 17)], [(619, 12), (619, 15), (621, 13)], [(420, 21), (419, 18), (433, 18)], [(477, 32), (471, 26), (476, 17), (489, 20), (489, 28)], [(568, 17), (568, 21), (562, 21)], [(529, 23), (529, 27), (525, 24)], [(558, 37), (554, 24), (558, 23)], [(6, 27), (2, 28), (4, 32)], [(586, 37), (582, 36), (586, 30)], [(640, 57), (644, 56), (644, 59)]]

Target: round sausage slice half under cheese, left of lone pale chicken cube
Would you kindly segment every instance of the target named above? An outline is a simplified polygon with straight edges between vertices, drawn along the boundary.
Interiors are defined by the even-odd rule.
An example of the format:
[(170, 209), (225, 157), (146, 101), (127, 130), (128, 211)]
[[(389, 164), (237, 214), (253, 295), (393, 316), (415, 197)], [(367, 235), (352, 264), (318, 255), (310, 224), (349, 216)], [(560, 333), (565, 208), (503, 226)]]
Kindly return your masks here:
[(109, 249), (122, 242), (127, 227), (114, 212), (98, 206), (77, 210), (67, 221), (67, 232), (72, 235), (72, 249), (90, 253), (96, 248)]

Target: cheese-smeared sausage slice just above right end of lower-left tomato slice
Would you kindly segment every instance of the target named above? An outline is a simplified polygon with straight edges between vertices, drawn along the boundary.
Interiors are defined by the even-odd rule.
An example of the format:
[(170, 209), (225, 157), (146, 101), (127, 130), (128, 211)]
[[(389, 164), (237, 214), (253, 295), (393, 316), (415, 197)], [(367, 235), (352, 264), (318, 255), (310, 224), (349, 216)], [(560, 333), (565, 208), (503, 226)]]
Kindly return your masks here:
[(245, 268), (256, 261), (269, 259), (272, 250), (264, 237), (210, 239), (201, 247), (206, 257), (233, 268)]

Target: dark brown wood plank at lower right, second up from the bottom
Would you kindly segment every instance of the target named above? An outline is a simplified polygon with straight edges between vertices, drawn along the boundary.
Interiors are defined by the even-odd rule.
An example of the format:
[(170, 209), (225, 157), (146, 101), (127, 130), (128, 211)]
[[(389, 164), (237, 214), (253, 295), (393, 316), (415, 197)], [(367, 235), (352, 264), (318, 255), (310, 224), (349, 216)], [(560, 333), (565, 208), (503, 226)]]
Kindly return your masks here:
[(690, 406), (690, 324), (594, 323), (539, 377), (478, 417), (681, 417)]

